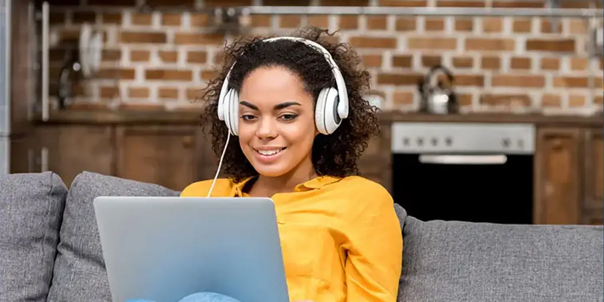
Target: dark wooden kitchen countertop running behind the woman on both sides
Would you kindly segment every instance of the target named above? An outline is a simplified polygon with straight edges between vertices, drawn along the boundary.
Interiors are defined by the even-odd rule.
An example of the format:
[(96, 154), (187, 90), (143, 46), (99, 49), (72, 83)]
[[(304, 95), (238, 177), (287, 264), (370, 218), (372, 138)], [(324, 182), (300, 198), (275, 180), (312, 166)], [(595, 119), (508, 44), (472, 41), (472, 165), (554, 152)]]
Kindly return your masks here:
[[(68, 110), (51, 112), (48, 121), (40, 117), (36, 124), (198, 124), (200, 111), (94, 111)], [(472, 113), (455, 115), (429, 115), (413, 112), (382, 112), (382, 123), (533, 123), (539, 126), (602, 127), (602, 114), (588, 117), (571, 115)]]

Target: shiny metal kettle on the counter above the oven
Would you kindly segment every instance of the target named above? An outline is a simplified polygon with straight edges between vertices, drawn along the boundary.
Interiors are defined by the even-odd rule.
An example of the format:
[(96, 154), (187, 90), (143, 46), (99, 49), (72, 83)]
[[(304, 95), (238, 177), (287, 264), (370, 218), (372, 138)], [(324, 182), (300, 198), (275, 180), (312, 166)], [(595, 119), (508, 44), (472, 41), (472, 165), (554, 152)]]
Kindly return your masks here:
[[(436, 85), (432, 80), (437, 73), (442, 72), (447, 77), (447, 85), (437, 80)], [(455, 114), (459, 112), (457, 94), (453, 90), (455, 78), (452, 72), (442, 65), (432, 66), (423, 79), (417, 83), (420, 94), (420, 112), (429, 114)]]

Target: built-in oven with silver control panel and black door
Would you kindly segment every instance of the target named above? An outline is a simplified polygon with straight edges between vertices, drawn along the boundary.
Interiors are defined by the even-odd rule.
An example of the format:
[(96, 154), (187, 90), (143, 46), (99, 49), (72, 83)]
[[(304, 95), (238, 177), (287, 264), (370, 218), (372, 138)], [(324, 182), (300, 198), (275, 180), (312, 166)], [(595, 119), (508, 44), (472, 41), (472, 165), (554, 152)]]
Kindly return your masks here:
[(421, 220), (531, 224), (532, 124), (394, 123), (393, 198)]

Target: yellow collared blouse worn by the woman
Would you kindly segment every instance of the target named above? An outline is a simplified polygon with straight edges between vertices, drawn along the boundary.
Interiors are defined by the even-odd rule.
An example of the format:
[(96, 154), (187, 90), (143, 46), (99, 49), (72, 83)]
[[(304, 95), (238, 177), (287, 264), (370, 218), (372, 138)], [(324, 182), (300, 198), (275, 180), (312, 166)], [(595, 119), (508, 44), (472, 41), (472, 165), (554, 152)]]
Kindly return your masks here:
[[(248, 180), (217, 179), (211, 196), (248, 197)], [(205, 197), (211, 183), (188, 185), (181, 197)], [(403, 241), (384, 187), (359, 176), (320, 176), (271, 199), (291, 301), (396, 301)]]

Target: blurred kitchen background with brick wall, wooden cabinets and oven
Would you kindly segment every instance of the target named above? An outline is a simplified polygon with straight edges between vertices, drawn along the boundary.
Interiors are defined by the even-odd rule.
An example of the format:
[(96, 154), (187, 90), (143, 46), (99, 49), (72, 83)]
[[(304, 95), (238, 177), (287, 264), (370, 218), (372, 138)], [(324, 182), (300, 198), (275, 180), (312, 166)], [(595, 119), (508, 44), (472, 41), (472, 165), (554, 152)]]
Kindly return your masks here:
[(420, 219), (602, 224), (602, 0), (0, 0), (0, 173), (181, 190), (225, 40), (339, 30), (373, 75), (360, 172)]

